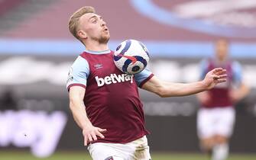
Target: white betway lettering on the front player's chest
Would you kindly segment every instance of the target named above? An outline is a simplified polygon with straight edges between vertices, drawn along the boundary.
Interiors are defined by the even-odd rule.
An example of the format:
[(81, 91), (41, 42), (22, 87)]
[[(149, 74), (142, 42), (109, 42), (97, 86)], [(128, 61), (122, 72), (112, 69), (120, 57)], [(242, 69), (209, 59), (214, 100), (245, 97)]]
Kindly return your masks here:
[(96, 79), (97, 85), (101, 87), (103, 85), (110, 85), (112, 83), (120, 83), (120, 82), (128, 82), (128, 81), (131, 81), (131, 83), (133, 83), (133, 77), (134, 75), (110, 74), (109, 76), (105, 76), (104, 78), (99, 78), (99, 76), (96, 76), (95, 79)]

